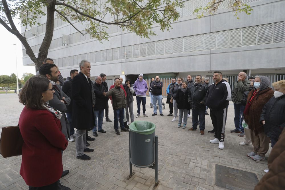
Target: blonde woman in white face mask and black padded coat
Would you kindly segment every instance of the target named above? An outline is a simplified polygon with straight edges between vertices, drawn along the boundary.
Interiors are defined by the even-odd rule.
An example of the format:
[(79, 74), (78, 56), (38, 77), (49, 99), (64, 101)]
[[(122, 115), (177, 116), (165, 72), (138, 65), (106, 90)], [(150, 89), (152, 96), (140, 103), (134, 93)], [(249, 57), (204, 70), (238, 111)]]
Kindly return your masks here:
[(264, 105), (260, 115), (266, 136), (271, 139), (271, 146), (277, 142), (285, 127), (285, 80), (272, 84), (274, 96)]

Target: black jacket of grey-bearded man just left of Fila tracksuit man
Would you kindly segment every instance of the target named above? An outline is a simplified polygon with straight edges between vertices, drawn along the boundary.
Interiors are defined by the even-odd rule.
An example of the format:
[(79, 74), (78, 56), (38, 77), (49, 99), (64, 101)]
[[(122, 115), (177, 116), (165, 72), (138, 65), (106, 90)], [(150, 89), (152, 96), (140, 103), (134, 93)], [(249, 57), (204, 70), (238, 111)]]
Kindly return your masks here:
[(206, 109), (206, 94), (208, 86), (200, 82), (199, 84), (194, 83), (190, 86), (188, 91), (188, 103), (191, 105), (191, 109)]

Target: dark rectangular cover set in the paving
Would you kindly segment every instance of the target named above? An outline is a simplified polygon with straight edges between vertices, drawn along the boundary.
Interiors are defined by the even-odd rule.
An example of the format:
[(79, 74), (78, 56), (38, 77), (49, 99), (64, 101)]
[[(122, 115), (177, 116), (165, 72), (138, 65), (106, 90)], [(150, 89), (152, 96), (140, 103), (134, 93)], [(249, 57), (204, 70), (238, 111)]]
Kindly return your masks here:
[(253, 190), (258, 183), (255, 173), (216, 164), (216, 185), (230, 190)]

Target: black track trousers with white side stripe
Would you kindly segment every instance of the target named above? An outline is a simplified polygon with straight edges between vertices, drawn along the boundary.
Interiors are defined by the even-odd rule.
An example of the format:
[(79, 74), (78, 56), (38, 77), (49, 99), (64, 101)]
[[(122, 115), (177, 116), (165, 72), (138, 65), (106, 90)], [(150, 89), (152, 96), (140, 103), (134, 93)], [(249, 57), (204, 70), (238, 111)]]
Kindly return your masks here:
[(212, 110), (210, 109), (210, 116), (214, 126), (215, 138), (220, 142), (225, 140), (225, 125), (227, 121), (228, 107), (225, 109)]

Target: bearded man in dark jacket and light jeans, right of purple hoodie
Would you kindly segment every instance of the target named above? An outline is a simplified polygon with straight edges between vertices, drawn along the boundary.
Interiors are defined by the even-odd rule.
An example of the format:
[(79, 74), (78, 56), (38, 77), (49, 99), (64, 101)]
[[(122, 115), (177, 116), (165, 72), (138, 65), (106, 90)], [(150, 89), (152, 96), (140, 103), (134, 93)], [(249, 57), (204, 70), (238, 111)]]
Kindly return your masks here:
[(160, 81), (159, 76), (155, 77), (155, 80), (152, 81), (151, 83), (151, 88), (152, 88), (152, 102), (153, 102), (153, 114), (152, 116), (157, 115), (156, 111), (156, 101), (158, 102), (158, 107), (159, 107), (159, 115), (163, 116), (162, 114), (162, 87), (163, 87), (163, 82)]

